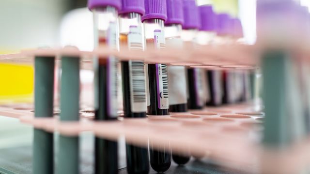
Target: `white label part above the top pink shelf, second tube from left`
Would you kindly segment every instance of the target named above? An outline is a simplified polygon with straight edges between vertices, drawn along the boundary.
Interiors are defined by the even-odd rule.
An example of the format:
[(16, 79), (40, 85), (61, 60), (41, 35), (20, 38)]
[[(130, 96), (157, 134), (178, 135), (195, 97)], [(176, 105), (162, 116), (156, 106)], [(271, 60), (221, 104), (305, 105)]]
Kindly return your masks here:
[(130, 50), (143, 50), (142, 30), (140, 26), (130, 26), (128, 33), (128, 47)]

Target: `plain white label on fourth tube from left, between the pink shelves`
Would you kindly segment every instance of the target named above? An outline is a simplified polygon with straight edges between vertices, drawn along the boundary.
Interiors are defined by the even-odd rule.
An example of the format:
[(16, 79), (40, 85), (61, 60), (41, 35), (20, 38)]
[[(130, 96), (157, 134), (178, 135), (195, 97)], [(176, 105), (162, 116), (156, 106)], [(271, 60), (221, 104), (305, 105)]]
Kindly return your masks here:
[(187, 103), (185, 71), (184, 66), (168, 66), (170, 105)]

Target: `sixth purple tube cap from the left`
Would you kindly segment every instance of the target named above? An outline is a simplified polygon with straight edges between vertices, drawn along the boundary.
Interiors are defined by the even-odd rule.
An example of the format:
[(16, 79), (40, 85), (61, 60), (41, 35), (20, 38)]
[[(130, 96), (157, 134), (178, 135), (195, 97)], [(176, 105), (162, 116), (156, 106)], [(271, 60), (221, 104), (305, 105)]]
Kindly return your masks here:
[(211, 5), (199, 6), (199, 13), (201, 19), (200, 30), (214, 31), (216, 29), (216, 14)]

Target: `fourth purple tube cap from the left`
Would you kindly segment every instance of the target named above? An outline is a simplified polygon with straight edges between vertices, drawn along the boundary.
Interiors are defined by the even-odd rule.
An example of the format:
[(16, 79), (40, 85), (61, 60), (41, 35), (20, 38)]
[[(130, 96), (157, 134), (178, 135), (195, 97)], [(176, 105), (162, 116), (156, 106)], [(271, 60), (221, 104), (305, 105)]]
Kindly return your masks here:
[(167, 0), (167, 21), (165, 24), (184, 23), (183, 0)]

